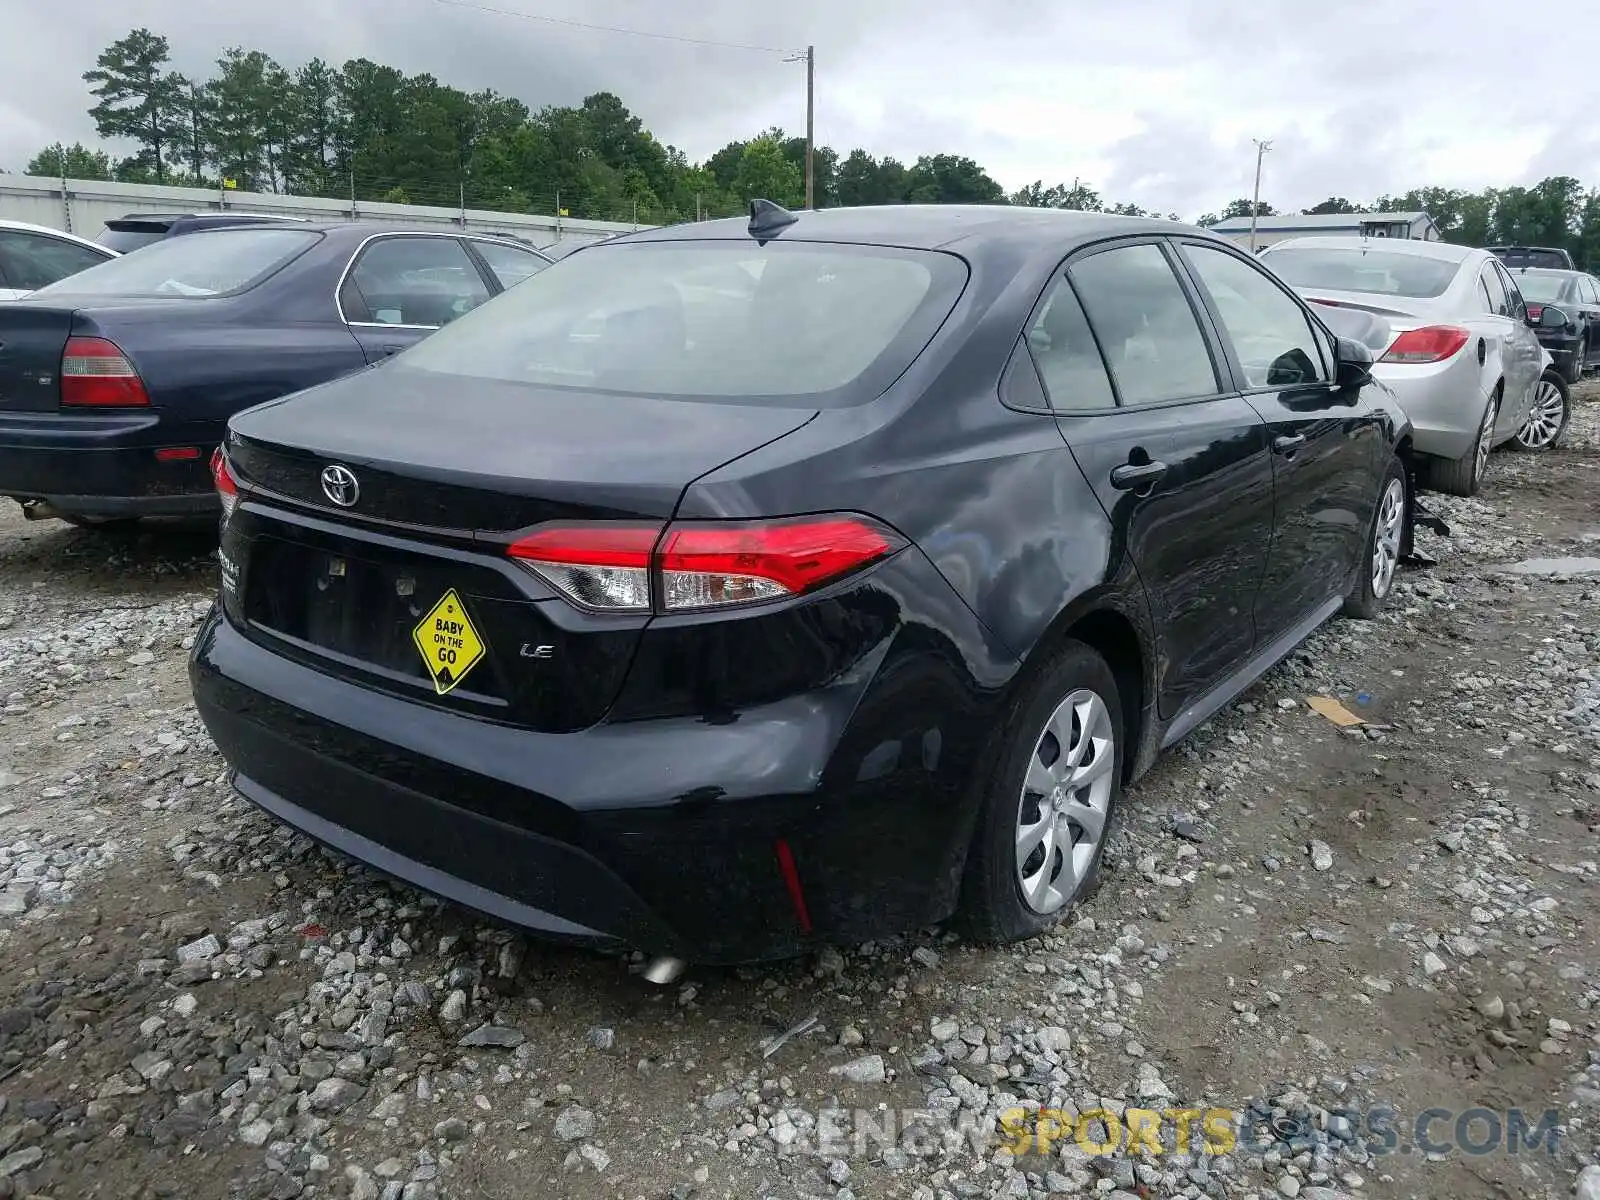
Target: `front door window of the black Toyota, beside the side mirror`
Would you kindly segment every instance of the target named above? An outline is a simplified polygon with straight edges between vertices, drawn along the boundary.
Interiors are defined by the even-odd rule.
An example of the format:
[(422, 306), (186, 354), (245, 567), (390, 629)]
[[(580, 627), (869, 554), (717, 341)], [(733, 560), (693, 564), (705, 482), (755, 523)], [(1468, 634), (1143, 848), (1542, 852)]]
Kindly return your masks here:
[(1294, 298), (1253, 264), (1211, 246), (1184, 254), (1222, 317), (1245, 368), (1245, 387), (1293, 387), (1328, 381), (1315, 328)]

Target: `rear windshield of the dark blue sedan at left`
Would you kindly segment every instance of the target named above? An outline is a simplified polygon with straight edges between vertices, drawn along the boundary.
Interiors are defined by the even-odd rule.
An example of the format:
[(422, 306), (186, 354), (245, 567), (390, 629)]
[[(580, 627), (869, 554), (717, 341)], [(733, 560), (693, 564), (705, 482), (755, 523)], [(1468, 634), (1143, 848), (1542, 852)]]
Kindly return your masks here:
[(266, 278), (318, 237), (302, 229), (218, 229), (170, 237), (34, 294), (224, 296)]

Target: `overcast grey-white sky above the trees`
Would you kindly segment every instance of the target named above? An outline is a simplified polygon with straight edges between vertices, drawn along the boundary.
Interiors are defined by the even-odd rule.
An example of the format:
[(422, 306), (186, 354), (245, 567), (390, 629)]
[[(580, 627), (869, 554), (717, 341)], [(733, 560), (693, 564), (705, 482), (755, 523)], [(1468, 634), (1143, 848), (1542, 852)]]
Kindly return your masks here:
[[(1528, 26), (1490, 0), (483, 0), (501, 10), (773, 48), (816, 45), (818, 141), (904, 162), (963, 154), (1008, 190), (1080, 178), (1107, 200), (1195, 218), (1250, 195), (1304, 208), (1424, 184), (1573, 174), (1600, 186), (1600, 123), (1571, 102), (1600, 24)], [(80, 75), (133, 26), (205, 75), (229, 45), (285, 66), (371, 58), (531, 107), (614, 91), (704, 158), (768, 125), (805, 130), (782, 54), (578, 30), (440, 0), (0, 0), (0, 166), (94, 142)], [(1565, 82), (1563, 82), (1565, 80)], [(1590, 106), (1592, 107), (1592, 106)], [(114, 147), (126, 154), (131, 147)]]

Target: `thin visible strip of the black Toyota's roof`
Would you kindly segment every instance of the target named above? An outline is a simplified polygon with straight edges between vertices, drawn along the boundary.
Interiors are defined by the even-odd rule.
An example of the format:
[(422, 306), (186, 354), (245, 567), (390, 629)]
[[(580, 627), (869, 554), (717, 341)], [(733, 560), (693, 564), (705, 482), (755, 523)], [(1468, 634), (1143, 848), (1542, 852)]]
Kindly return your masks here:
[[(872, 205), (798, 211), (794, 216), (797, 221), (778, 232), (776, 240), (845, 242), (914, 250), (960, 246), (963, 253), (981, 250), (987, 243), (1035, 242), (1040, 237), (1056, 238), (1066, 250), (1074, 242), (1117, 234), (1203, 232), (1163, 218), (1010, 205)], [(704, 240), (749, 242), (749, 218), (662, 226), (621, 234), (606, 238), (606, 243)]]

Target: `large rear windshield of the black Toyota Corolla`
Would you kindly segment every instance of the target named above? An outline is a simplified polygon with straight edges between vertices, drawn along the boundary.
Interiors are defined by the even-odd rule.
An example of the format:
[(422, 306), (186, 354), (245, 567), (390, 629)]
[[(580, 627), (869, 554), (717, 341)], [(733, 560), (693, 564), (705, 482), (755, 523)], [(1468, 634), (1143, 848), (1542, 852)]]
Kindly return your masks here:
[(446, 325), (398, 362), (579, 390), (854, 403), (917, 358), (965, 283), (962, 259), (925, 250), (592, 246)]

